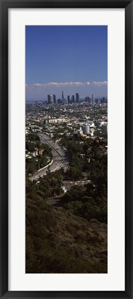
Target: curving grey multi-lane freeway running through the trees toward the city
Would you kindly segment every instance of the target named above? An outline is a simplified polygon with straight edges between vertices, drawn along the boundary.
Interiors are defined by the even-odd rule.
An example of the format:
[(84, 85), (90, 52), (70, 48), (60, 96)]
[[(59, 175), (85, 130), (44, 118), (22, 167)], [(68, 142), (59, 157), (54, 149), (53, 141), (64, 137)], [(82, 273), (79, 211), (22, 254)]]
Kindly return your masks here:
[(42, 168), (34, 173), (34, 175), (30, 177), (30, 180), (38, 180), (39, 177), (43, 177), (43, 175), (47, 174), (48, 169), (50, 169), (52, 172), (62, 167), (67, 169), (69, 165), (68, 157), (59, 144), (55, 143), (48, 135), (39, 134), (39, 137), (41, 143), (48, 144), (50, 147), (52, 147), (52, 163), (50, 166), (46, 166), (45, 168)]

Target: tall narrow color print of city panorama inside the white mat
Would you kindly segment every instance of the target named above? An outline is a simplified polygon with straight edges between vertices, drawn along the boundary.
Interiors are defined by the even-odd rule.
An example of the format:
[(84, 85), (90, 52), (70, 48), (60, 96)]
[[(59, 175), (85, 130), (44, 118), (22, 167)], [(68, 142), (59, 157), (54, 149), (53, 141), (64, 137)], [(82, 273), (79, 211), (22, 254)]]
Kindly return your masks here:
[(25, 26), (25, 273), (108, 273), (108, 26)]

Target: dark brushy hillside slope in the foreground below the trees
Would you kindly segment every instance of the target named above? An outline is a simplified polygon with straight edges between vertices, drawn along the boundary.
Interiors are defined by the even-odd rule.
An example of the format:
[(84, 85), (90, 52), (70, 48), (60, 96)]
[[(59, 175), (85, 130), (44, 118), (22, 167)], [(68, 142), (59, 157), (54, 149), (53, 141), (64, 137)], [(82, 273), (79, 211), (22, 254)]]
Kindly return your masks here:
[(107, 273), (107, 224), (26, 199), (26, 273)]

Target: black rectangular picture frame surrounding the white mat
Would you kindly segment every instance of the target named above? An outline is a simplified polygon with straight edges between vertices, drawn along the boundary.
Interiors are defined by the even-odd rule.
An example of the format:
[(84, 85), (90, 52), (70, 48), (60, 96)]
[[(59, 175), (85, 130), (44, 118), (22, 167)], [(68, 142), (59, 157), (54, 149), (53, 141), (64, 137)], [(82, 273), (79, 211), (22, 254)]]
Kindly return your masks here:
[[(125, 8), (125, 291), (8, 291), (8, 8)], [(0, 0), (0, 297), (133, 298), (132, 117), (133, 1)], [(121, 207), (120, 207), (121, 209)]]

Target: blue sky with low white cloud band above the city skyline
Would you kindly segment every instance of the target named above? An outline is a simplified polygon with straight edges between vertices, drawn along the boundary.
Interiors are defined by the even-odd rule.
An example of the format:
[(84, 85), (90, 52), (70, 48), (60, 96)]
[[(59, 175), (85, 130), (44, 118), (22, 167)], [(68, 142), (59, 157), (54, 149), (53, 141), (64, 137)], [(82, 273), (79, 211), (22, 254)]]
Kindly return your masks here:
[(26, 99), (106, 96), (107, 26), (26, 26)]

